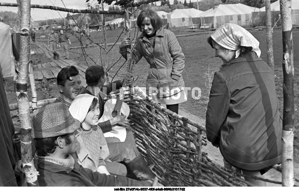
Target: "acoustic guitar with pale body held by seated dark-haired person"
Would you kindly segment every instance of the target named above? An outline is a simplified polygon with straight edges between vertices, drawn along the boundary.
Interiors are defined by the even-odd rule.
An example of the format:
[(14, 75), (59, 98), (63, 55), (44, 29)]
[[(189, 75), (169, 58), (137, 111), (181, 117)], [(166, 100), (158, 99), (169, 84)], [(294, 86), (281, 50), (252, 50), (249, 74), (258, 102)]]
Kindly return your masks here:
[[(104, 105), (104, 112), (102, 117), (99, 120), (100, 122), (104, 122), (107, 120), (112, 119), (117, 114), (125, 115), (126, 117), (130, 114), (130, 108), (129, 106), (123, 102), (123, 98), (125, 96), (125, 92), (129, 90), (128, 86), (128, 80), (131, 78), (132, 72), (133, 72), (133, 66), (134, 66), (135, 60), (129, 59), (128, 60), (128, 67), (127, 67), (127, 73), (125, 76), (125, 79), (123, 81), (123, 86), (120, 88), (120, 93), (118, 99), (109, 99), (105, 102)], [(112, 129), (118, 131), (118, 134), (115, 134), (111, 131), (108, 131), (104, 133), (105, 137), (117, 137), (120, 142), (125, 141), (126, 139), (126, 128), (123, 126), (112, 126)]]

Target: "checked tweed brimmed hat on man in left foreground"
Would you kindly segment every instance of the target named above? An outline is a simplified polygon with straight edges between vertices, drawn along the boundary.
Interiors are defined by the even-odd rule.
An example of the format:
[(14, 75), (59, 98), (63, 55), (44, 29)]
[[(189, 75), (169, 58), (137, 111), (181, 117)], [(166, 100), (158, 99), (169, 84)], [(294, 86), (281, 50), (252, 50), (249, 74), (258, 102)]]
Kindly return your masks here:
[(64, 103), (52, 103), (33, 112), (33, 138), (56, 137), (73, 133), (80, 127)]

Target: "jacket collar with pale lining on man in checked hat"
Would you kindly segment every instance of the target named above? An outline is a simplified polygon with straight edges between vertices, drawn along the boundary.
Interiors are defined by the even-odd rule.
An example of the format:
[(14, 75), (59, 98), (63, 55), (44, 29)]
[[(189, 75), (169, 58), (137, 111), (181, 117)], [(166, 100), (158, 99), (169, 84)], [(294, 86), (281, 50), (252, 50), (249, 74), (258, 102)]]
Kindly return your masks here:
[(69, 174), (74, 169), (74, 158), (68, 155), (67, 159), (38, 157), (38, 167), (51, 171), (52, 173)]

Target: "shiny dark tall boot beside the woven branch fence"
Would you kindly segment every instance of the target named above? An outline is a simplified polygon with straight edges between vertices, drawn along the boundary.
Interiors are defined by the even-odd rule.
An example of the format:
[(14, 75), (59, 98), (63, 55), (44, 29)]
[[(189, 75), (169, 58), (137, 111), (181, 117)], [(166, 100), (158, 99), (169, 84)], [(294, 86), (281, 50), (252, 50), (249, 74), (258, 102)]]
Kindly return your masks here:
[(131, 179), (138, 181), (155, 179), (141, 154), (125, 163), (125, 166), (127, 168), (127, 177)]

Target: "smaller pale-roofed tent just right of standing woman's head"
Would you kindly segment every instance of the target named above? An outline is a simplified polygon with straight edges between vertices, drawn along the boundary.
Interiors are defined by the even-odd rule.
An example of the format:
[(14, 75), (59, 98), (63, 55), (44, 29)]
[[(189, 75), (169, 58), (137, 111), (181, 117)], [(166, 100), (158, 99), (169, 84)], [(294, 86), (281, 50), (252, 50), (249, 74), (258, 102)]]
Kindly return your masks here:
[(203, 11), (192, 9), (176, 9), (167, 14), (167, 23), (170, 28), (198, 25), (200, 14)]

